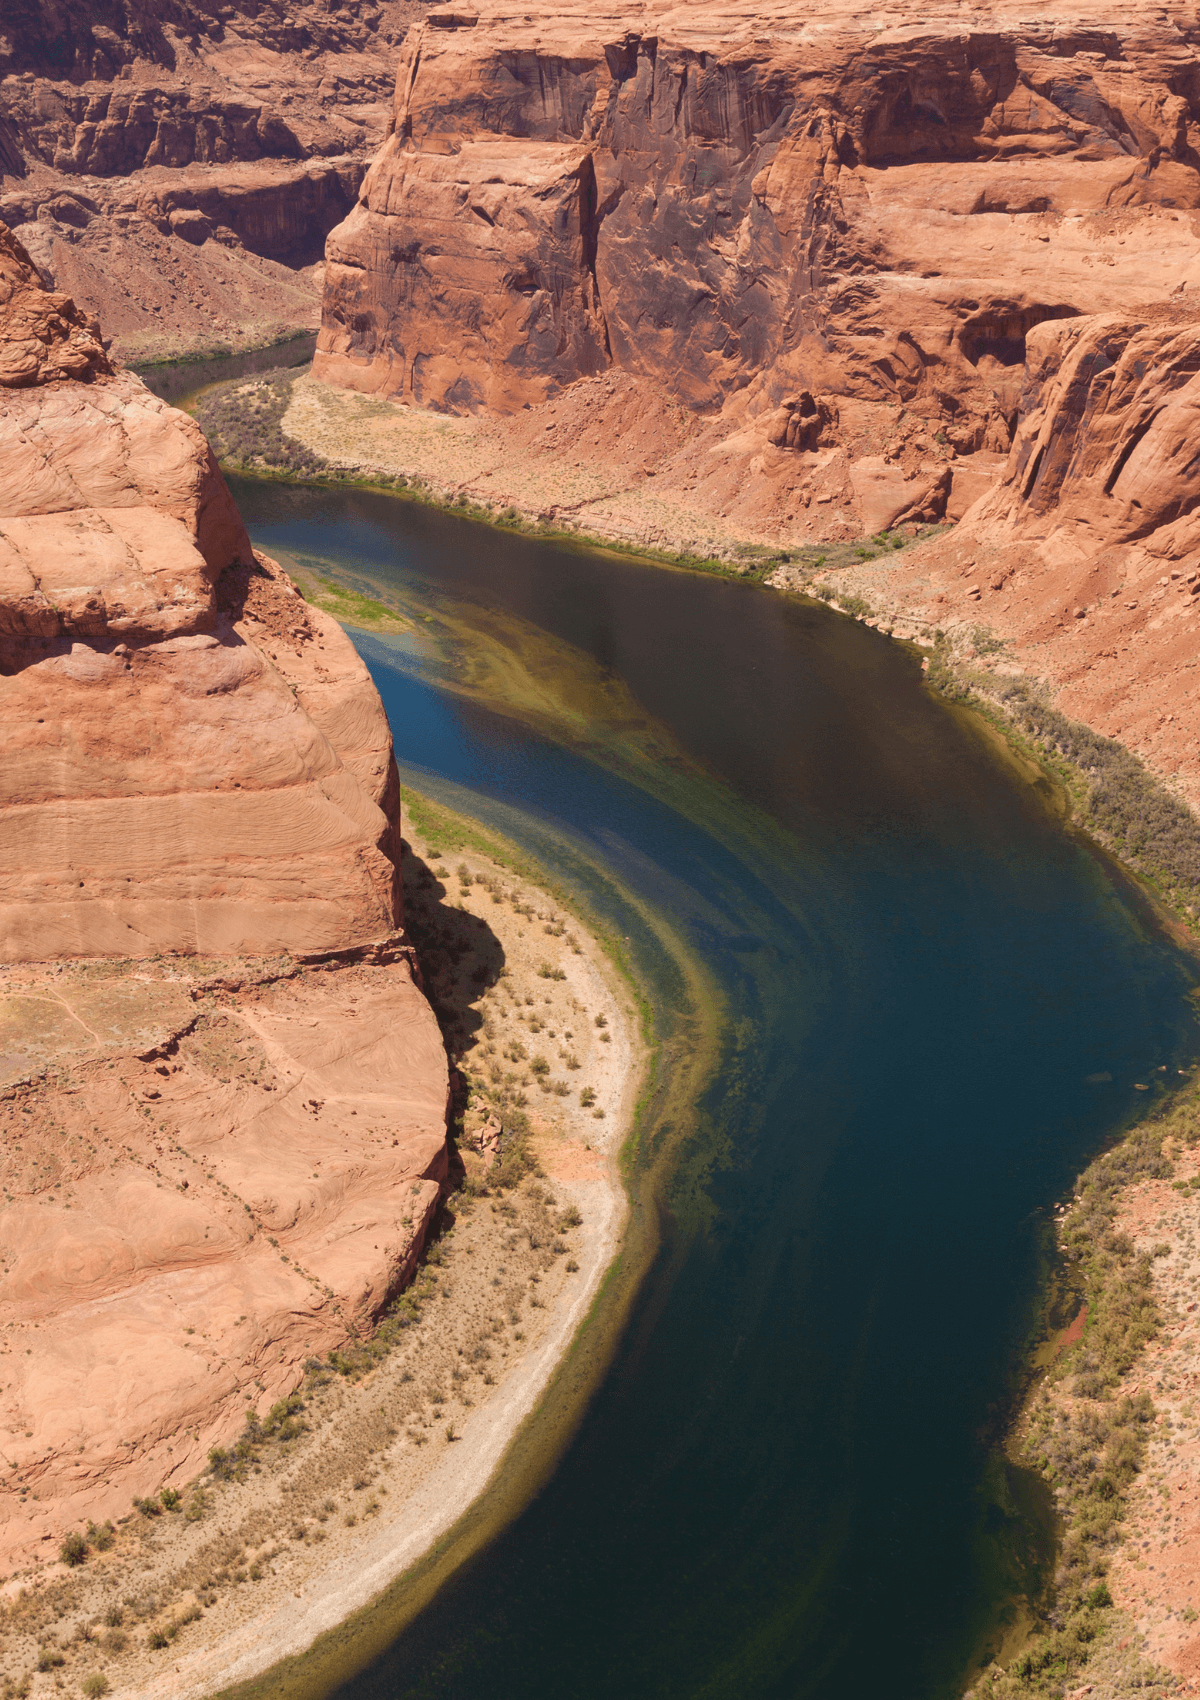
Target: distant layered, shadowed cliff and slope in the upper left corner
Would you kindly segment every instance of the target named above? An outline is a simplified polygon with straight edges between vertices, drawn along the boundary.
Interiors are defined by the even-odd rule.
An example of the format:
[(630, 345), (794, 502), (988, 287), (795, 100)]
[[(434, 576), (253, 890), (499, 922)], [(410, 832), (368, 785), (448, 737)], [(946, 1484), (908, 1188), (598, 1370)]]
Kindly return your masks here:
[(0, 218), (126, 357), (311, 328), (325, 235), (382, 139), (422, 14), (17, 0), (0, 27)]

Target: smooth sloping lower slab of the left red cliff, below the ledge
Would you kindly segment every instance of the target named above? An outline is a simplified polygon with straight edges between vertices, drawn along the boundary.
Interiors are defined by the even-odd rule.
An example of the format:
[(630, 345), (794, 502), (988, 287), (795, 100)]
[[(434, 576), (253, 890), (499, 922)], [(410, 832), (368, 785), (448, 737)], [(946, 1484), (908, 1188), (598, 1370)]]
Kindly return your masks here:
[(0, 1086), (8, 1571), (182, 1488), (246, 1404), (369, 1326), (440, 1197), (447, 1068), (388, 952), (10, 971), (0, 1030), (53, 1068)]

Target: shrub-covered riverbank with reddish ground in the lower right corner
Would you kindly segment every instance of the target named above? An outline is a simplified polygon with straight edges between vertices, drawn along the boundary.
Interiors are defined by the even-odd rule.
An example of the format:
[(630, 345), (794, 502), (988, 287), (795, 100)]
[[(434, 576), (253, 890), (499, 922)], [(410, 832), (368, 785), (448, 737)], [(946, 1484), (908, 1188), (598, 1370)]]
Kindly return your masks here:
[(1040, 1630), (974, 1697), (1125, 1700), (1200, 1678), (1200, 1091), (1164, 1073), (1056, 1210), (1076, 1314), (1039, 1350), (1010, 1450), (1054, 1491), (1057, 1571)]

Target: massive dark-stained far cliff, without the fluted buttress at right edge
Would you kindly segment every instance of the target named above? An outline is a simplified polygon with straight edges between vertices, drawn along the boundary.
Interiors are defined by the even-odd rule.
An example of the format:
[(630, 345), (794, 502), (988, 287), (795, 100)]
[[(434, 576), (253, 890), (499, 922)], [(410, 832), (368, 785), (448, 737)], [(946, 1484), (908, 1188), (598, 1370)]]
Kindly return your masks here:
[[(748, 432), (744, 524), (782, 542), (962, 512), (1035, 326), (1200, 280), (1195, 68), (1188, 24), (1117, 7), (433, 10), (316, 372), (473, 411), (614, 366)], [(789, 434), (804, 393), (824, 425)]]

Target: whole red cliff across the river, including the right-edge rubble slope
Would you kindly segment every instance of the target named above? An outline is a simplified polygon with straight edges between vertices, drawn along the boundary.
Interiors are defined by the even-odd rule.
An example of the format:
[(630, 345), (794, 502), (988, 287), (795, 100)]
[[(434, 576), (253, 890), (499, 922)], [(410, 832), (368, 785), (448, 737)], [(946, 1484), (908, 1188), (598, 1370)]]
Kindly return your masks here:
[[(855, 590), (1011, 639), (1195, 789), (1198, 44), (1057, 0), (439, 7), (314, 374), (513, 415), (461, 488), (530, 507), (558, 456), (542, 517), (600, 536), (811, 564), (960, 520)], [(622, 464), (631, 389), (695, 423)]]

